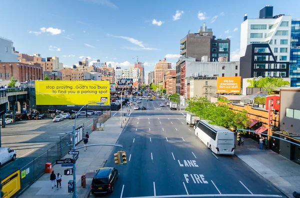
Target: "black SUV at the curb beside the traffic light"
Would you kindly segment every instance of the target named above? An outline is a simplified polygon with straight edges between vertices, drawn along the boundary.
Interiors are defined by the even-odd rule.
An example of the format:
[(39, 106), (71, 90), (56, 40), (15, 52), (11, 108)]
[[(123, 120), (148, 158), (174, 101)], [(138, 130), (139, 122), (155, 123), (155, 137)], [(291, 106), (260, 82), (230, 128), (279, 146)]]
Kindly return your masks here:
[(118, 171), (115, 168), (100, 168), (92, 179), (90, 188), (91, 194), (112, 193), (113, 185), (118, 178)]

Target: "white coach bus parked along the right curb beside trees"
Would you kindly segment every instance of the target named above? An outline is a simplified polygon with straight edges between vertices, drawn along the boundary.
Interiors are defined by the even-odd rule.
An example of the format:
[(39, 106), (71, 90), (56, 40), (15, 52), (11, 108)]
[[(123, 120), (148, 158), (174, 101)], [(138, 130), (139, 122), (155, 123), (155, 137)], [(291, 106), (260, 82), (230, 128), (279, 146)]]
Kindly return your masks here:
[(215, 154), (234, 154), (234, 134), (223, 127), (198, 120), (195, 135)]

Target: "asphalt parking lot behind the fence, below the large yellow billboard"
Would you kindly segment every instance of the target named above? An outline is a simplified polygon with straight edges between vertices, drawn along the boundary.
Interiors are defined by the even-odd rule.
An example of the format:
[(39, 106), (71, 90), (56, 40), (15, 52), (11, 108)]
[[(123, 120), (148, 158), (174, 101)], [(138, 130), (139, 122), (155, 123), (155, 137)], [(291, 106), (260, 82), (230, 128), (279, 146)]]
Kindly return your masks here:
[[(84, 124), (85, 132), (91, 130), (93, 118), (77, 118), (76, 126)], [(35, 158), (35, 171), (44, 171), (44, 164), (57, 156), (56, 143), (59, 138), (66, 136), (65, 132), (72, 131), (74, 120), (63, 120), (53, 123), (52, 119), (23, 120), (1, 128), (1, 146), (16, 150), (16, 160), (1, 166), (1, 177), (6, 177)], [(69, 141), (70, 142), (70, 141)], [(48, 149), (52, 148), (48, 153)]]

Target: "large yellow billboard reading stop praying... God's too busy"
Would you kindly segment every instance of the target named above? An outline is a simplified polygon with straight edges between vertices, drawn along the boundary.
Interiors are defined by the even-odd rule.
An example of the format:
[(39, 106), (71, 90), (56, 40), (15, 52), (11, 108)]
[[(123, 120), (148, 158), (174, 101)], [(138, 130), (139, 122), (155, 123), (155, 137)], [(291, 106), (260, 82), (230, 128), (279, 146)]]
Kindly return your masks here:
[(36, 105), (110, 104), (109, 81), (35, 81)]

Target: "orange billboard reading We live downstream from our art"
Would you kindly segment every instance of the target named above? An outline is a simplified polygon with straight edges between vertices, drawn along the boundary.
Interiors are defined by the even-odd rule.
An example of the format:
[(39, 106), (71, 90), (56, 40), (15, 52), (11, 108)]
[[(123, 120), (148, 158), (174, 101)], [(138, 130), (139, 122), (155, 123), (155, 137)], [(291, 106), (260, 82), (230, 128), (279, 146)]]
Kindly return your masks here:
[(240, 93), (240, 76), (216, 77), (216, 93)]

